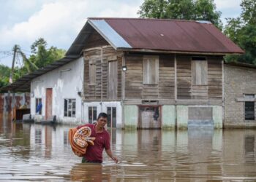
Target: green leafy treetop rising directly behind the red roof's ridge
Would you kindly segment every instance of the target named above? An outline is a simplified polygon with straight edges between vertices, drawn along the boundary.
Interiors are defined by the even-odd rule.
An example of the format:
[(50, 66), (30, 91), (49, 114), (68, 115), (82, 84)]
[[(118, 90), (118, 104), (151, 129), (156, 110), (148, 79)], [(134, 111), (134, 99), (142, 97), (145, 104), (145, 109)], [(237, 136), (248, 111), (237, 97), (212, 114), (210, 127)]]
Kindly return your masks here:
[(221, 12), (214, 0), (145, 0), (138, 11), (140, 17), (179, 20), (208, 20), (222, 29)]

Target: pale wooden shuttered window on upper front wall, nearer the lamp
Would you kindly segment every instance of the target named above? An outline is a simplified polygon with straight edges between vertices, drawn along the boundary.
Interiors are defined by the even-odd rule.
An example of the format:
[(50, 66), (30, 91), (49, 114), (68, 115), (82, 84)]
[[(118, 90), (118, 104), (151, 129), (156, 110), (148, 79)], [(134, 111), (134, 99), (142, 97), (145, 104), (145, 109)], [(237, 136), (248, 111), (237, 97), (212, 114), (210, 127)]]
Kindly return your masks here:
[(158, 84), (159, 56), (143, 56), (143, 84)]

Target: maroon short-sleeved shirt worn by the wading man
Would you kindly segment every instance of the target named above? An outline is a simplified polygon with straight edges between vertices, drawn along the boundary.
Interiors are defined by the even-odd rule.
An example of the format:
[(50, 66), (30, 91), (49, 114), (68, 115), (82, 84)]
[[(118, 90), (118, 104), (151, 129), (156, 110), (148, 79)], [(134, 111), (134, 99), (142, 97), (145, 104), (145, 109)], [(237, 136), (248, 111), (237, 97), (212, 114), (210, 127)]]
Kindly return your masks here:
[(85, 158), (89, 162), (102, 162), (102, 152), (103, 149), (108, 150), (110, 149), (110, 135), (108, 131), (103, 129), (103, 132), (95, 132), (95, 125), (96, 124), (84, 124), (78, 126), (77, 128), (80, 129), (81, 127), (90, 127), (91, 128), (91, 137), (95, 137), (94, 146), (87, 146)]

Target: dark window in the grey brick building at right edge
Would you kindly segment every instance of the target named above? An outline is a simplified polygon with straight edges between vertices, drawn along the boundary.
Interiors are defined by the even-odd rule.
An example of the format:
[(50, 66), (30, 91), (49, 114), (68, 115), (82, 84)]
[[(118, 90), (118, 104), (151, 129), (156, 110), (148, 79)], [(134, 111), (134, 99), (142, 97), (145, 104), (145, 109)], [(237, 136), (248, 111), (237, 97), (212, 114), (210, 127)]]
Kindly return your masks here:
[(252, 100), (244, 102), (244, 119), (255, 120), (255, 95), (246, 94), (244, 98), (246, 98), (246, 100)]

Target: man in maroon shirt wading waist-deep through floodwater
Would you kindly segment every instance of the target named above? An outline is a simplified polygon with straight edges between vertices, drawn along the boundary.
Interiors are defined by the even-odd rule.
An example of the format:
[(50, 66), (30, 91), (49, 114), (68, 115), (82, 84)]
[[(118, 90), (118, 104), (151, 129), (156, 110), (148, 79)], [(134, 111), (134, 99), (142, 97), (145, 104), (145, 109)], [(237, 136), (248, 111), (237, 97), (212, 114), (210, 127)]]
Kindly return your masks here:
[(110, 135), (107, 130), (105, 130), (105, 124), (107, 124), (108, 115), (105, 113), (99, 113), (96, 124), (84, 124), (78, 126), (77, 129), (81, 127), (91, 128), (91, 137), (95, 137), (94, 146), (87, 146), (86, 154), (83, 156), (82, 163), (102, 163), (102, 152), (105, 149), (108, 156), (113, 159), (116, 163), (118, 159), (113, 156), (110, 149)]

